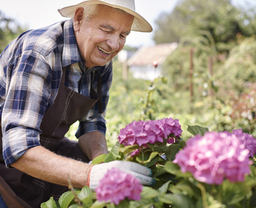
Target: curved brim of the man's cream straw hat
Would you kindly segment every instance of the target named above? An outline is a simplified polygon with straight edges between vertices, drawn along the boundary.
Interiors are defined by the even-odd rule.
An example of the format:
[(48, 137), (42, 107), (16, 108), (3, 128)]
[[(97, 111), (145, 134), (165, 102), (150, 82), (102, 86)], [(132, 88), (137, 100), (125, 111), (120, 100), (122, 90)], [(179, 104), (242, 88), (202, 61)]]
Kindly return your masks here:
[(109, 4), (104, 1), (99, 1), (99, 0), (83, 1), (80, 4), (76, 4), (76, 5), (72, 5), (69, 7), (64, 7), (64, 8), (58, 9), (58, 12), (61, 14), (61, 16), (65, 17), (65, 18), (73, 18), (73, 16), (75, 15), (75, 9), (77, 9), (78, 7), (85, 7), (85, 6), (92, 5), (92, 4), (105, 4), (109, 7), (124, 10), (124, 12), (127, 12), (130, 15), (133, 15), (135, 17), (135, 19), (133, 20), (133, 23), (132, 23), (132, 28), (131, 28), (132, 31), (140, 31), (140, 32), (153, 31), (153, 28), (148, 23), (148, 21), (145, 20), (142, 16), (140, 16), (137, 12), (133, 11), (132, 9), (128, 9), (127, 7), (121, 7), (116, 4)]

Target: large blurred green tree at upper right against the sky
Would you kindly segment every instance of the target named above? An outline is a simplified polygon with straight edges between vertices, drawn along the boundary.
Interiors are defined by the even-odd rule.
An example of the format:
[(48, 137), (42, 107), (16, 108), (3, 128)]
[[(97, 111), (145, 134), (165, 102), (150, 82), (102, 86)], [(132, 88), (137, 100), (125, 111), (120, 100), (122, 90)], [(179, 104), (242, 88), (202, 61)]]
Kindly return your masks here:
[(157, 44), (182, 39), (189, 42), (195, 37), (208, 39), (211, 36), (217, 51), (228, 52), (236, 45), (237, 35), (255, 34), (256, 15), (253, 11), (252, 8), (249, 12), (249, 9), (234, 7), (229, 0), (181, 1), (173, 12), (157, 18), (154, 41)]

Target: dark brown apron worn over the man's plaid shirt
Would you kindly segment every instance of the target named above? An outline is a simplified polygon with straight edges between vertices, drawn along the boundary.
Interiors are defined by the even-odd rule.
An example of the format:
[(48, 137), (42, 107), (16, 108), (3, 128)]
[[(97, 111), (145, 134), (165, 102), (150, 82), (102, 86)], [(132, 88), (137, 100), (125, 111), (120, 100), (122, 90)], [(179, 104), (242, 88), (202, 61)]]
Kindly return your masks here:
[[(94, 72), (91, 72), (91, 98), (64, 86), (65, 72), (66, 70), (63, 69), (59, 93), (54, 104), (45, 112), (42, 119), (40, 144), (59, 155), (89, 162), (89, 158), (78, 147), (78, 142), (69, 140), (64, 135), (69, 130), (69, 126), (80, 120), (97, 101), (99, 112), (102, 112), (99, 72), (97, 71), (99, 95), (92, 87)], [(0, 147), (2, 145), (1, 137), (0, 131)], [(40, 207), (40, 204), (48, 201), (51, 196), (58, 200), (61, 194), (67, 190), (66, 186), (39, 180), (20, 172), (18, 169), (7, 169), (3, 156), (0, 155), (0, 194), (8, 208)]]

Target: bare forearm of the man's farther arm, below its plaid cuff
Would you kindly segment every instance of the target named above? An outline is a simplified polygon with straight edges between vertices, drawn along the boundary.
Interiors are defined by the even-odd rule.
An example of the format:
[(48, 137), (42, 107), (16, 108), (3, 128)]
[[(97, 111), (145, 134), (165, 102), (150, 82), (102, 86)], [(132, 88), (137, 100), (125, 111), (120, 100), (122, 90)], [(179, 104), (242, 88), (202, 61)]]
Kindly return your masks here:
[(99, 155), (108, 154), (105, 135), (99, 131), (83, 134), (78, 139), (78, 145), (91, 161)]

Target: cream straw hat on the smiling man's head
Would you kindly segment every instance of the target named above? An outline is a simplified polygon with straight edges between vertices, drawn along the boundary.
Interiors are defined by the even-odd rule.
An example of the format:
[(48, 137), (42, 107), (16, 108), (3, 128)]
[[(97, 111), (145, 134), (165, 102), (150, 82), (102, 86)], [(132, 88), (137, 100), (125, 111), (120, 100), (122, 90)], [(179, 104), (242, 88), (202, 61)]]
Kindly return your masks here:
[(61, 14), (61, 16), (65, 18), (73, 18), (73, 16), (75, 15), (75, 9), (77, 9), (78, 7), (85, 7), (92, 4), (105, 4), (109, 7), (122, 9), (130, 15), (133, 15), (135, 19), (133, 20), (132, 23), (132, 31), (153, 31), (148, 21), (145, 20), (142, 16), (140, 16), (137, 12), (135, 12), (135, 0), (86, 0), (81, 2), (80, 4), (58, 9), (58, 11)]

